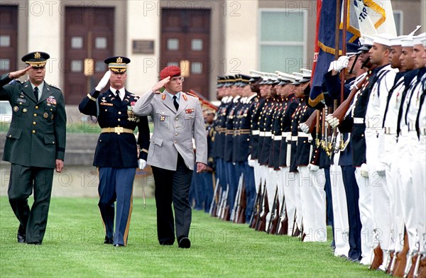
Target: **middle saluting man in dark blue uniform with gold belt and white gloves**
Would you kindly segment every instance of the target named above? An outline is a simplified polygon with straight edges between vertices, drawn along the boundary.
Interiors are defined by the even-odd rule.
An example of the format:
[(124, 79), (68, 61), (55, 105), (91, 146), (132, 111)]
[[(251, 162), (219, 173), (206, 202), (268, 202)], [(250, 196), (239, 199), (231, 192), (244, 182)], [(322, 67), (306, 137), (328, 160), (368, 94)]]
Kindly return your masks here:
[[(133, 179), (136, 167), (146, 166), (149, 146), (148, 118), (133, 113), (138, 96), (124, 89), (126, 57), (104, 61), (108, 72), (80, 103), (80, 112), (96, 116), (102, 133), (94, 152), (93, 165), (99, 169), (99, 210), (105, 226), (106, 244), (126, 246), (132, 211)], [(101, 90), (110, 82), (108, 91)], [(136, 142), (133, 130), (138, 127)], [(139, 147), (139, 155), (138, 155)], [(114, 202), (116, 223), (114, 233)]]

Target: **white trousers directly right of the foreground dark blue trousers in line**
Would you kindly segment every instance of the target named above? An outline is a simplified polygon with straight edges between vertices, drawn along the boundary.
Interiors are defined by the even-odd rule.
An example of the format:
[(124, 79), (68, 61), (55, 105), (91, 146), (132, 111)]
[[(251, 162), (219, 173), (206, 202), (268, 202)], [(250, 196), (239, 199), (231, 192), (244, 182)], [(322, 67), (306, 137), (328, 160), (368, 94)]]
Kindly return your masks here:
[(361, 218), (361, 263), (371, 265), (371, 252), (373, 248), (373, 198), (371, 196), (371, 187), (368, 185), (368, 177), (361, 176), (361, 168), (355, 169), (356, 184), (359, 188), (359, 215)]

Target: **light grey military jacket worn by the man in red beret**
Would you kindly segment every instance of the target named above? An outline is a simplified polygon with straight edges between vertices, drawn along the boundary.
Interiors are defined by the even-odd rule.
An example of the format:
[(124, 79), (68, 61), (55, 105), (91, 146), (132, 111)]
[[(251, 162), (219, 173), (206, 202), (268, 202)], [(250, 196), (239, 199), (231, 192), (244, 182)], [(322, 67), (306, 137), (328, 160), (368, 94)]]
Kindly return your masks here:
[[(133, 106), (137, 116), (151, 115), (153, 135), (148, 150), (148, 165), (175, 170), (178, 153), (189, 169), (194, 162), (207, 164), (207, 135), (200, 101), (180, 92), (179, 109), (166, 93), (148, 91)], [(192, 139), (195, 140), (194, 153)]]

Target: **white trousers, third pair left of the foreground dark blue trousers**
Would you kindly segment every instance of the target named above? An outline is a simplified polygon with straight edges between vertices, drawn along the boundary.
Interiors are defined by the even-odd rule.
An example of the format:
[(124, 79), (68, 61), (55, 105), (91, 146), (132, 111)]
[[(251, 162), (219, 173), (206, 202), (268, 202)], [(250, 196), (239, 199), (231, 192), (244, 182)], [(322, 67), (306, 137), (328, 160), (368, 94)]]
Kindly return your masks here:
[(288, 235), (293, 232), (293, 223), (295, 221), (296, 211), (296, 187), (295, 174), (288, 172), (290, 168), (281, 168), (281, 180), (283, 184), (284, 196), (285, 196), (285, 210), (287, 211), (288, 217)]

